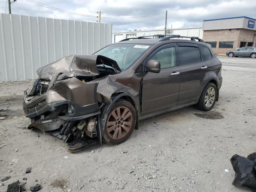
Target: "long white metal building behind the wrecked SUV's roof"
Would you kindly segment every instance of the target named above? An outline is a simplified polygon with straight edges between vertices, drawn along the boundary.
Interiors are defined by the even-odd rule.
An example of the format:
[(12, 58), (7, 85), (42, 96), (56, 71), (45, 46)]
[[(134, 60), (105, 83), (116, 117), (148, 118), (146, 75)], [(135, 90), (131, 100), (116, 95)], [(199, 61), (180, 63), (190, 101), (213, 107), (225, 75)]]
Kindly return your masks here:
[[(129, 31), (129, 32), (114, 32), (112, 34), (112, 43), (114, 43), (115, 35), (123, 35), (123, 39), (127, 37), (129, 34), (136, 34), (139, 36), (150, 36), (150, 35), (163, 35), (164, 30), (147, 30), (147, 31)], [(168, 29), (167, 35), (181, 35), (181, 36), (194, 36), (203, 38), (203, 30), (202, 27), (194, 27), (194, 28), (179, 28), (179, 29)]]

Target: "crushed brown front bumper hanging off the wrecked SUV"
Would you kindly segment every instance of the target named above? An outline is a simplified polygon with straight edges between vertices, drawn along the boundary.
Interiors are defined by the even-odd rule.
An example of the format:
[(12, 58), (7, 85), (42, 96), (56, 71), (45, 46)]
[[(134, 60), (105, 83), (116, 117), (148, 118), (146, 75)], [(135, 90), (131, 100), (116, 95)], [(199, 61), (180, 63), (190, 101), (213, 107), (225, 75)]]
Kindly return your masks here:
[[(28, 91), (24, 92), (23, 109), (32, 122), (29, 129), (38, 128), (43, 132), (70, 130), (76, 121), (100, 114), (96, 100), (97, 82), (86, 83), (73, 77), (51, 81), (50, 85), (42, 95), (28, 96)], [(65, 130), (62, 133), (69, 134), (70, 131)]]

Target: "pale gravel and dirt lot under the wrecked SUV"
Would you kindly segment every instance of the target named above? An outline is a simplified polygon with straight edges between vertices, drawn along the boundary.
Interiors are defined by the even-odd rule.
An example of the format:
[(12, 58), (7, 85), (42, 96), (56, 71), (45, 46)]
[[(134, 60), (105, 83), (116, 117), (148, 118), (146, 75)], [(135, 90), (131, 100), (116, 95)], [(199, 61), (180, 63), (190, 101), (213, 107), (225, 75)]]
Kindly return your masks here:
[(230, 158), (256, 151), (256, 59), (220, 60), (223, 83), (212, 111), (190, 106), (144, 120), (125, 143), (78, 154), (26, 129), (21, 95), (32, 81), (0, 83), (0, 179), (11, 176), (0, 191), (23, 178), (26, 191), (36, 183), (43, 192), (244, 191), (232, 186)]

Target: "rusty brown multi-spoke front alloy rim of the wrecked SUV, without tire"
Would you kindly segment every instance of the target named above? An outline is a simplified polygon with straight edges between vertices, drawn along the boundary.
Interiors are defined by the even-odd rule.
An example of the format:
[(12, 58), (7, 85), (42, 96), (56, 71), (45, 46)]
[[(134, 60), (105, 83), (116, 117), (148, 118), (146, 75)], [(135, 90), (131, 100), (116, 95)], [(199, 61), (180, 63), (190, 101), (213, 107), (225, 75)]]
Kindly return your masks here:
[(115, 140), (121, 139), (132, 127), (132, 112), (127, 107), (118, 107), (112, 111), (106, 124), (106, 133)]

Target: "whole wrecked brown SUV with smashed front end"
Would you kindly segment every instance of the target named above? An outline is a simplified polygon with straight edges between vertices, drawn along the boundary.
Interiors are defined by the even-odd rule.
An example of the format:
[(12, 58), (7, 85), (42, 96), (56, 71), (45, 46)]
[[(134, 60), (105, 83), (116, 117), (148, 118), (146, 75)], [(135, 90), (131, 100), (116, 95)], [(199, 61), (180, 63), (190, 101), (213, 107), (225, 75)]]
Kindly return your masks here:
[(76, 151), (94, 137), (120, 144), (145, 118), (193, 104), (211, 110), (222, 64), (209, 44), (190, 39), (125, 39), (39, 68), (24, 92), (28, 128), (48, 132)]

